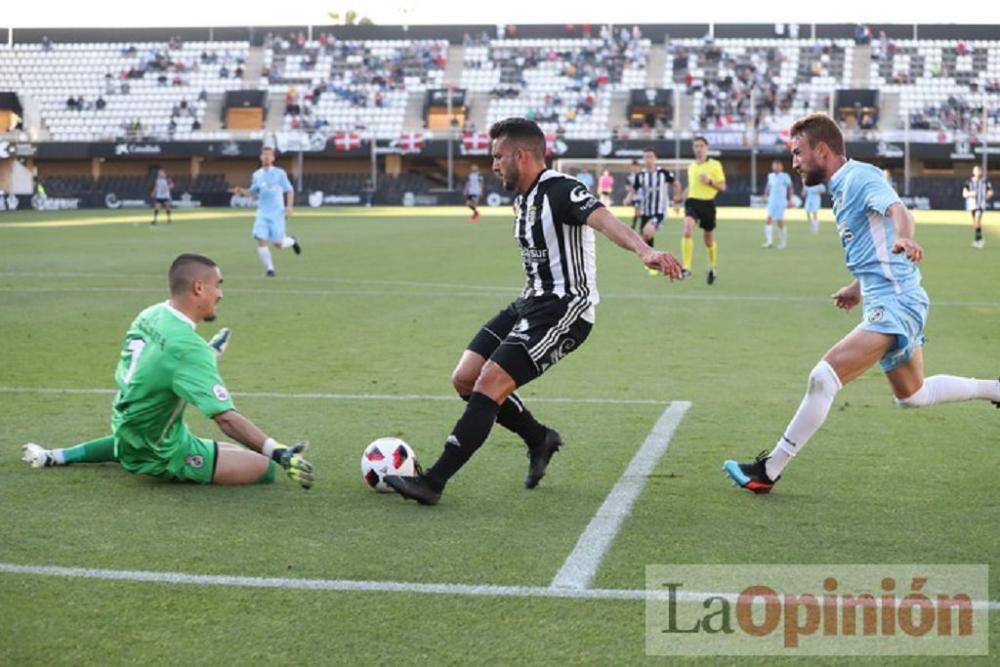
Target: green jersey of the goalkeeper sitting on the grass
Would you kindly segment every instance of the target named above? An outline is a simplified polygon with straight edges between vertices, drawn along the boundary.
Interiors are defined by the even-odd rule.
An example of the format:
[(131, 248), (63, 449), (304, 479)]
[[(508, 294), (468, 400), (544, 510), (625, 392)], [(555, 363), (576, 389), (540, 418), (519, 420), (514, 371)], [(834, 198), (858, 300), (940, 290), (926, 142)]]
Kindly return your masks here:
[(120, 461), (167, 461), (185, 447), (188, 403), (212, 418), (233, 409), (215, 351), (186, 315), (160, 303), (145, 309), (125, 334), (115, 371), (111, 413)]

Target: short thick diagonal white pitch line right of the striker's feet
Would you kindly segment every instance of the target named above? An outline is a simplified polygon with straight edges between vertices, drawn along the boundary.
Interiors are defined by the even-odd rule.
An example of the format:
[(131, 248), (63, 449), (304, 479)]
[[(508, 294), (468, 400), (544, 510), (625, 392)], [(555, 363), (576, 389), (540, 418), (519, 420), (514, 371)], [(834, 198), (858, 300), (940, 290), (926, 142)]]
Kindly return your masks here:
[(584, 590), (590, 586), (604, 554), (632, 512), (632, 505), (642, 492), (646, 478), (666, 453), (670, 438), (690, 407), (688, 401), (674, 401), (663, 411), (597, 514), (587, 524), (572, 553), (559, 568), (552, 580), (552, 588)]

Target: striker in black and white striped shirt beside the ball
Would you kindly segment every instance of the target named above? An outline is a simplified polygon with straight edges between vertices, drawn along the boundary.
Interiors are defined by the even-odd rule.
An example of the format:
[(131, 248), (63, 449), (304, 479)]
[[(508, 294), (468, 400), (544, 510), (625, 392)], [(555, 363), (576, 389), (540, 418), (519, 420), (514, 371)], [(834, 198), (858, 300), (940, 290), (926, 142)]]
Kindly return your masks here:
[(597, 293), (597, 230), (634, 252), (650, 269), (680, 278), (681, 265), (653, 250), (575, 178), (545, 167), (545, 135), (524, 118), (490, 128), (493, 171), (516, 191), (514, 239), (521, 250), (525, 285), (521, 296), (473, 337), (452, 372), (452, 384), (467, 401), (438, 460), (415, 477), (387, 475), (406, 498), (434, 505), (448, 480), (486, 441), (494, 422), (517, 433), (528, 446), (525, 487), (535, 488), (562, 445), (555, 430), (539, 423), (514, 391), (556, 364), (587, 339)]

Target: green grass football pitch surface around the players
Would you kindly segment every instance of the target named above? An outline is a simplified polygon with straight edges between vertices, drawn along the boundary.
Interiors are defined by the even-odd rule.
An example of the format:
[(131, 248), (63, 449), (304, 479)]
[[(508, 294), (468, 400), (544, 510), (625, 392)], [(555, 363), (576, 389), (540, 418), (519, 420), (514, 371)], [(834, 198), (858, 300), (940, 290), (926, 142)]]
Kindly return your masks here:
[[(156, 229), (128, 212), (0, 216), (0, 563), (545, 587), (666, 404), (684, 400), (692, 406), (595, 588), (641, 589), (654, 563), (983, 563), (1000, 599), (1000, 411), (989, 404), (903, 412), (873, 370), (838, 394), (772, 495), (738, 491), (720, 471), (773, 445), (809, 370), (858, 320), (828, 298), (848, 281), (829, 222), (817, 236), (792, 222), (778, 251), (760, 248), (759, 223), (723, 217), (712, 287), (699, 239), (694, 279), (670, 284), (601, 237), (590, 339), (523, 392), (567, 442), (550, 474), (524, 490), (523, 445), (497, 428), (441, 504), (424, 508), (369, 491), (360, 454), (397, 435), (424, 462), (437, 456), (463, 404), (435, 399), (452, 393), (449, 374), (479, 325), (521, 287), (509, 211), (467, 224), (461, 209), (303, 210), (289, 228), (304, 253), (276, 253), (273, 280), (251, 215), (181, 212)], [(918, 227), (928, 374), (1000, 373), (1000, 234), (989, 226), (983, 251), (971, 237)], [(657, 242), (679, 253), (675, 218)], [(112, 387), (121, 336), (166, 298), (166, 267), (185, 251), (222, 267), (220, 317), (200, 331), (234, 331), (221, 368), (237, 406), (279, 439), (310, 441), (312, 491), (19, 460), (27, 441), (105, 434), (110, 393), (60, 390)], [(221, 437), (187, 415), (199, 435)], [(1000, 612), (990, 625), (996, 656)], [(657, 662), (644, 633), (641, 600), (0, 574), (7, 665)]]

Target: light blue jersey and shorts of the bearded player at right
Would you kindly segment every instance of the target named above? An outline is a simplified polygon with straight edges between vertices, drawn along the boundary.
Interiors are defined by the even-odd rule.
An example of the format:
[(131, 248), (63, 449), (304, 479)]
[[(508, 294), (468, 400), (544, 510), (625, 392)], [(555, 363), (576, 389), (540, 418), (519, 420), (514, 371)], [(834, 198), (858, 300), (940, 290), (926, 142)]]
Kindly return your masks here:
[(861, 285), (864, 312), (859, 327), (896, 338), (881, 359), (888, 372), (924, 343), (930, 308), (917, 265), (905, 253), (892, 253), (896, 226), (886, 211), (900, 203), (899, 195), (880, 169), (854, 160), (837, 170), (829, 187), (844, 261)]

